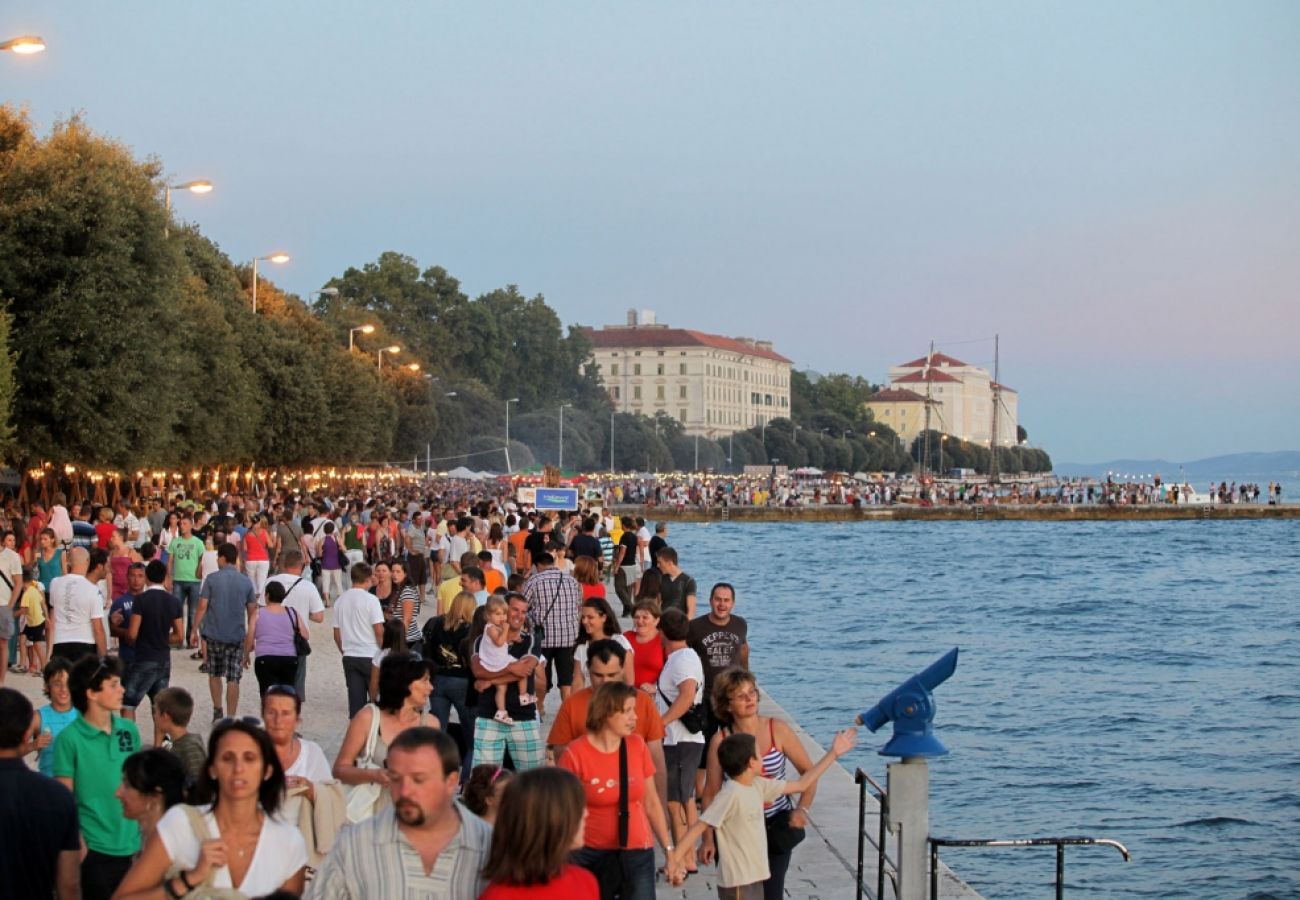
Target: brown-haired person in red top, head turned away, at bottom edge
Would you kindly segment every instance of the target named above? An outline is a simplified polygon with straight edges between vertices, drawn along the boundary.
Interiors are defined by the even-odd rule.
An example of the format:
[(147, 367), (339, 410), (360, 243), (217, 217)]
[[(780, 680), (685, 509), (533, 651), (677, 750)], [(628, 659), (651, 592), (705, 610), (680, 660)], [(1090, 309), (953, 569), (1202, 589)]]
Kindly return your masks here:
[(584, 805), (581, 783), (563, 769), (530, 769), (511, 779), (478, 900), (597, 900), (595, 877), (568, 864), (582, 845)]

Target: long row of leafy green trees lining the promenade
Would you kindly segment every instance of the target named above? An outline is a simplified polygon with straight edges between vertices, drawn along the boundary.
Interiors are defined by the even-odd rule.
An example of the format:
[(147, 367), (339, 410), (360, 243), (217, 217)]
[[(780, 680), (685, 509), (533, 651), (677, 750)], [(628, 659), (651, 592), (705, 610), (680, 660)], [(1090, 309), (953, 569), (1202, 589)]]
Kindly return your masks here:
[[(42, 138), (0, 107), (0, 451), (10, 463), (517, 470), (559, 462), (562, 443), (568, 470), (740, 471), (776, 459), (906, 471), (919, 459), (871, 420), (872, 386), (852, 376), (794, 372), (790, 419), (722, 441), (688, 437), (663, 414), (615, 412), (585, 332), (566, 329), (543, 297), (507, 285), (471, 298), (445, 269), (396, 252), (347, 268), (312, 306), (259, 278), (255, 313), (250, 268), (170, 220), (162, 174), (78, 118)], [(381, 369), (374, 352), (393, 345), (402, 352)], [(1045, 454), (1017, 462), (1050, 466)]]

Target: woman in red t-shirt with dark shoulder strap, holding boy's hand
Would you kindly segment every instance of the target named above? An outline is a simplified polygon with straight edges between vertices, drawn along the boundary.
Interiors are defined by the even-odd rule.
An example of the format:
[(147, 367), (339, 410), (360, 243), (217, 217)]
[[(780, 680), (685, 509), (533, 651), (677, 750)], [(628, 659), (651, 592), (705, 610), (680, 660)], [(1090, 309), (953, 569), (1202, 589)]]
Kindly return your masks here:
[[(595, 875), (601, 900), (653, 900), (654, 839), (673, 849), (654, 786), (654, 762), (637, 724), (636, 688), (606, 682), (592, 696), (586, 735), (569, 744), (559, 765), (577, 775), (586, 795), (586, 830), (573, 861)], [(610, 789), (618, 786), (618, 789)], [(685, 871), (668, 877), (680, 884)]]

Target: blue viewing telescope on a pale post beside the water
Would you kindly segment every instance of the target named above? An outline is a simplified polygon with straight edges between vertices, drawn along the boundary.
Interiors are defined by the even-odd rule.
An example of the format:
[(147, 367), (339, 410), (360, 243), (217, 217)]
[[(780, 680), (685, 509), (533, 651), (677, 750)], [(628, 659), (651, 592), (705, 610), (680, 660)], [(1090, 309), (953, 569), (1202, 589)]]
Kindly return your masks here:
[(890, 762), (887, 826), (894, 835), (898, 861), (898, 900), (924, 900), (930, 840), (930, 766), (927, 757), (948, 753), (935, 737), (935, 688), (957, 671), (957, 648), (913, 675), (858, 717), (872, 732), (893, 722), (894, 734), (881, 756), (902, 757)]

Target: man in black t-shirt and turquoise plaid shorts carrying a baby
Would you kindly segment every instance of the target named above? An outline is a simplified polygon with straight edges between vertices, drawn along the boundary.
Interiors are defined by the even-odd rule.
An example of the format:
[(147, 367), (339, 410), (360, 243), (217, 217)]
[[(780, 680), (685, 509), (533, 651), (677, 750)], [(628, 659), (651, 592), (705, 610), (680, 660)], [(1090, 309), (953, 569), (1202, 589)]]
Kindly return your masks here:
[[(524, 631), (528, 619), (528, 600), (521, 593), (512, 593), (507, 597), (506, 622), (510, 627), (510, 655), (516, 662), (499, 672), (490, 672), (478, 662), (478, 648), (484, 637), (474, 642), (473, 655), (469, 659), (469, 668), (473, 672), (474, 689), (478, 691), (478, 710), (474, 719), (474, 765), (499, 766), (504, 760), (506, 749), (510, 749), (510, 758), (515, 769), (537, 769), (546, 762), (546, 744), (542, 741), (542, 730), (537, 722), (537, 705), (523, 705), (519, 702), (519, 679), (528, 678), (528, 691), (537, 697), (546, 696), (546, 670), (542, 662), (541, 641), (537, 635)], [(497, 722), (497, 692), (495, 684), (506, 684), (506, 711), (515, 721), (514, 724)]]

